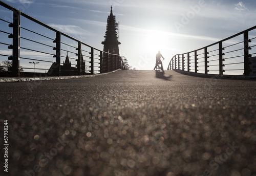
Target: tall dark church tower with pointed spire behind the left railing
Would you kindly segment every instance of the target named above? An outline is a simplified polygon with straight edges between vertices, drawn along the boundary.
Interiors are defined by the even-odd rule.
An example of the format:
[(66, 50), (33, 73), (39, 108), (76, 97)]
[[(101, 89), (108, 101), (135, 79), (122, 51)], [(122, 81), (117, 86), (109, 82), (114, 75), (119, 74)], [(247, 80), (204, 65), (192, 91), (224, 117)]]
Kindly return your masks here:
[[(106, 25), (106, 32), (105, 32), (105, 40), (101, 42), (103, 47), (103, 51), (112, 54), (119, 55), (119, 45), (121, 44), (118, 40), (118, 29), (119, 24), (116, 23), (116, 17), (113, 15), (112, 6), (110, 15), (108, 17), (107, 25)], [(102, 60), (102, 72), (106, 70), (106, 62), (107, 62), (106, 54), (103, 54)]]

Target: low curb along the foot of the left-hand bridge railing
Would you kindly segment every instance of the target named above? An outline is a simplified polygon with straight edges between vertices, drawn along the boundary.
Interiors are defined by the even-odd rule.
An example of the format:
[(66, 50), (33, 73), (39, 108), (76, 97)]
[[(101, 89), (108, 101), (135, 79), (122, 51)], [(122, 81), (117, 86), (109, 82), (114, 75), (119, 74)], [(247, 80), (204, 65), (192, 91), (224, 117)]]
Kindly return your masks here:
[[(121, 70), (121, 69), (118, 69)], [(76, 78), (88, 78), (88, 77), (95, 77), (95, 76), (102, 76), (107, 75), (110, 73), (114, 73), (118, 70), (108, 73), (100, 73), (95, 75), (78, 75), (78, 76), (48, 76), (48, 77), (7, 77), (7, 78), (0, 78), (0, 82), (24, 82), (24, 81), (43, 81), (43, 80), (60, 80), (60, 79), (76, 79)]]

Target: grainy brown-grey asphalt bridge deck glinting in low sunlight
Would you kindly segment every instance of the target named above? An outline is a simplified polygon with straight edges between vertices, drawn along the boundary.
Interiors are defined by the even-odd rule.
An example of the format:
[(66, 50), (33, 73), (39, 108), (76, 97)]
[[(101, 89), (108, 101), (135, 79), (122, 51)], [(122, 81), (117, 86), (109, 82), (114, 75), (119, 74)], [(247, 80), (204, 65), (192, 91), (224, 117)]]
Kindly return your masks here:
[(0, 175), (255, 176), (255, 87), (174, 71), (0, 83)]

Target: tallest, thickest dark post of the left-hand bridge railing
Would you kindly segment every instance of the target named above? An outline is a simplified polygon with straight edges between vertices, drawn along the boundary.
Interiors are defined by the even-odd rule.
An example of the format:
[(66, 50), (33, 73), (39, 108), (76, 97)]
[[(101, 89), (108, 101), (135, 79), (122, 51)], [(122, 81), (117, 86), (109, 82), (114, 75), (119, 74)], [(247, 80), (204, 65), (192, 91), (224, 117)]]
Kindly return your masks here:
[(12, 38), (12, 76), (19, 76), (19, 49), (20, 49), (20, 11), (13, 10), (13, 38)]

